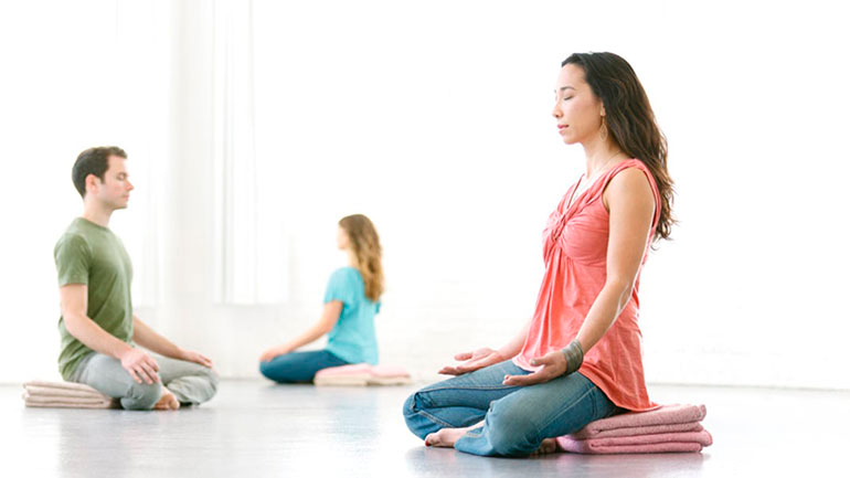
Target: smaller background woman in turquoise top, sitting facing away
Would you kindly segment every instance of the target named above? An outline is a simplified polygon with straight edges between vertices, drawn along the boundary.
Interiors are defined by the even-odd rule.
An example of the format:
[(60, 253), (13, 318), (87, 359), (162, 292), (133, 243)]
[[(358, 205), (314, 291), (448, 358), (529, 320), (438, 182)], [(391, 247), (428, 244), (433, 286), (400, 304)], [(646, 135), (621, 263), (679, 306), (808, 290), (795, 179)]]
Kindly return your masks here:
[[(342, 217), (337, 245), (347, 251), (349, 267), (328, 280), (321, 318), (294, 340), (266, 350), (259, 372), (279, 383), (310, 382), (321, 369), (349, 363), (378, 363), (374, 317), (381, 309), (383, 269), (381, 243), (372, 221), (362, 214)], [(295, 350), (328, 334), (320, 351)]]

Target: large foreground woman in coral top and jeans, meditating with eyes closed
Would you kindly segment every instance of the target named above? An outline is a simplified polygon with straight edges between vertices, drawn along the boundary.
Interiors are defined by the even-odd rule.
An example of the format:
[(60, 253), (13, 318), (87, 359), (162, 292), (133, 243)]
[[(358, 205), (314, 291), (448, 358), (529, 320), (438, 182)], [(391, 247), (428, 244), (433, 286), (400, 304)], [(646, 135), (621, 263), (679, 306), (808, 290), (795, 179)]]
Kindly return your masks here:
[(624, 410), (648, 411), (638, 328), (640, 269), (673, 224), (667, 141), (631, 66), (578, 53), (555, 84), (557, 132), (582, 145), (586, 171), (543, 231), (545, 275), (534, 315), (498, 350), (455, 357), (404, 404), (428, 446), (525, 456), (550, 438)]

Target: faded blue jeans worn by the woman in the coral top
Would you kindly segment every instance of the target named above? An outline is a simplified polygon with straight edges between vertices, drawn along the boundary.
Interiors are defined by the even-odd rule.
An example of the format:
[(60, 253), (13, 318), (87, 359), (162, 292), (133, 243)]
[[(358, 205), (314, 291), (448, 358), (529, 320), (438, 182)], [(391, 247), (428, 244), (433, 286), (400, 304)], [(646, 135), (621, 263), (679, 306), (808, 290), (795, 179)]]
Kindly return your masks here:
[(425, 438), (444, 427), (465, 427), (455, 448), (481, 456), (527, 456), (544, 438), (577, 432), (619, 408), (587, 378), (562, 375), (530, 386), (502, 385), (504, 375), (527, 375), (504, 361), (426, 386), (404, 403), (404, 419)]

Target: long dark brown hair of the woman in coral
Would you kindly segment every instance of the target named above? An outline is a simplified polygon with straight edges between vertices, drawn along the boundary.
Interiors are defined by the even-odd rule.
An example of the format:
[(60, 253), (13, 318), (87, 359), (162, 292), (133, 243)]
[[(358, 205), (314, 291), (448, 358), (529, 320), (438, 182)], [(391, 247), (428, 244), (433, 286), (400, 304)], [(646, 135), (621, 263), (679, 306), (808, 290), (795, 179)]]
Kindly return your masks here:
[(631, 158), (647, 166), (661, 196), (661, 212), (654, 240), (669, 238), (672, 216), (673, 180), (667, 172), (667, 138), (656, 123), (644, 86), (631, 65), (614, 53), (573, 53), (561, 63), (578, 65), (593, 94), (605, 105), (603, 118), (610, 140)]

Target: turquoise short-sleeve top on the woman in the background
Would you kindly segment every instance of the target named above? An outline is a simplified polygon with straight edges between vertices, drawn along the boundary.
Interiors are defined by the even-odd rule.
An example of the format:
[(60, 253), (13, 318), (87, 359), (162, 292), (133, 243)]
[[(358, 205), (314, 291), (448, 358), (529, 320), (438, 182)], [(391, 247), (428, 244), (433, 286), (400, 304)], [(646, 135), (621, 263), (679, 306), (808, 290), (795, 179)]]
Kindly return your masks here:
[(363, 277), (354, 267), (342, 267), (333, 272), (328, 280), (325, 304), (342, 302), (342, 312), (333, 329), (328, 333), (327, 351), (349, 363), (378, 363), (378, 339), (375, 338), (375, 315), (381, 302), (373, 302), (365, 296)]

